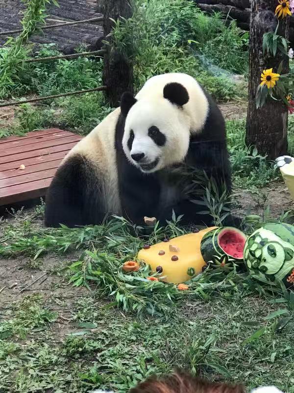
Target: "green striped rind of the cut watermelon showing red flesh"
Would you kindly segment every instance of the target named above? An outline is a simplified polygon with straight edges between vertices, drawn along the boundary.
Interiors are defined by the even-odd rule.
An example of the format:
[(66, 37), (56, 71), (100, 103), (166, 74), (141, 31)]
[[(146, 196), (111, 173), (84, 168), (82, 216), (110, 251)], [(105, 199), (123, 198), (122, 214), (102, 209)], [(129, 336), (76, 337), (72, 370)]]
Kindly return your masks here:
[(222, 235), (222, 232), (224, 231), (234, 231), (237, 232), (240, 236), (244, 238), (244, 241), (247, 239), (245, 233), (243, 233), (241, 230), (237, 228), (233, 228), (230, 226), (225, 226), (225, 227), (220, 227), (216, 229), (212, 229), (210, 232), (206, 233), (200, 244), (200, 251), (202, 254), (202, 257), (206, 263), (210, 262), (214, 256), (221, 256), (224, 254), (227, 254), (231, 259), (235, 261), (242, 261), (243, 260), (243, 255), (240, 258), (234, 257), (233, 255), (230, 255), (226, 253), (220, 246), (219, 243), (219, 238)]

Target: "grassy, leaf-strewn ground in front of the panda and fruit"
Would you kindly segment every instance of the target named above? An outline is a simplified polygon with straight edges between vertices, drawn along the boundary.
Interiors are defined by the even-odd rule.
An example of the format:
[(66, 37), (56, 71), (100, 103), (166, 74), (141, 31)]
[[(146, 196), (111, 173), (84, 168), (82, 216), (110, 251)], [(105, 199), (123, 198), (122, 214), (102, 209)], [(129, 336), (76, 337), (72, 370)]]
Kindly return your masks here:
[[(10, 253), (7, 263), (20, 269), (22, 260), (42, 250), (37, 259), (44, 258), (45, 270), (36, 273), (26, 264), (20, 274), (47, 272), (49, 281), (31, 285), (29, 295), (2, 291), (1, 391), (83, 393), (101, 388), (124, 393), (153, 373), (184, 367), (210, 380), (243, 382), (248, 388), (274, 384), (294, 392), (291, 292), (252, 281), (242, 270), (205, 271), (185, 292), (163, 283), (134, 284), (126, 278), (146, 277), (148, 271), (142, 267), (133, 276), (123, 275), (123, 260), (133, 257), (143, 242), (182, 233), (178, 223), (143, 237), (118, 219), (95, 229), (53, 231), (36, 225), (42, 210), (14, 213), (1, 225), (1, 235), (11, 245), (1, 249), (1, 257)], [(107, 254), (105, 260), (101, 253)], [(54, 268), (46, 267), (47, 255)], [(88, 289), (67, 284), (76, 272)], [(138, 306), (127, 310), (118, 289), (127, 302), (131, 294)], [(153, 309), (146, 304), (140, 311), (143, 300)]]

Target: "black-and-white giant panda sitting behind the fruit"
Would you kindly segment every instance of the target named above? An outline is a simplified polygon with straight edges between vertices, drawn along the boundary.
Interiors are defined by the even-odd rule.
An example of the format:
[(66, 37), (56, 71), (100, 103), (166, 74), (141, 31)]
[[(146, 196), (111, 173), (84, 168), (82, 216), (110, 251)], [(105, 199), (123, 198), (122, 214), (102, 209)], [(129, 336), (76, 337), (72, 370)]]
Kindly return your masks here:
[(145, 216), (166, 223), (174, 211), (184, 223), (210, 225), (191, 202), (200, 186), (178, 175), (185, 168), (205, 171), (230, 193), (223, 116), (193, 77), (154, 76), (136, 97), (123, 93), (120, 108), (67, 154), (48, 189), (45, 224), (98, 225), (111, 214), (136, 225)]

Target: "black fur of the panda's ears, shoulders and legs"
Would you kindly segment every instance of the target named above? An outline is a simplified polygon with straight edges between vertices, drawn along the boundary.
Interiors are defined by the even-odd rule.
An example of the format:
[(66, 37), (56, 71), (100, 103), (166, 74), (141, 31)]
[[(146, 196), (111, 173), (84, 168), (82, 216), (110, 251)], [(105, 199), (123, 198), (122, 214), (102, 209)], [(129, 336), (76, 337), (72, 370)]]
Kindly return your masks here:
[[(183, 105), (187, 99), (185, 91), (173, 89), (172, 86), (164, 94), (165, 98), (178, 106)], [(231, 170), (225, 122), (211, 96), (208, 93), (205, 95), (209, 103), (205, 125), (200, 133), (191, 136), (188, 154), (181, 166), (205, 170), (214, 177), (219, 187), (224, 183), (230, 193)], [(166, 175), (169, 177), (169, 169), (146, 174), (127, 160), (122, 145), (124, 124), (126, 115), (135, 102), (136, 99), (129, 93), (123, 95), (121, 113), (115, 126), (114, 151), (121, 211), (108, 211), (105, 202), (107, 196), (105, 197), (101, 181), (103, 173), (98, 173), (95, 163), (80, 154), (74, 154), (58, 168), (49, 187), (45, 211), (47, 226), (101, 224), (112, 213), (123, 215), (138, 225), (144, 224), (144, 216), (156, 217), (165, 224), (166, 220), (172, 218), (172, 211), (176, 216), (184, 215), (185, 223), (212, 224), (209, 215), (197, 214), (203, 210), (203, 206), (191, 202), (191, 196), (190, 199), (181, 197), (181, 200), (172, 205), (160, 204), (161, 190), (165, 187)], [(172, 178), (169, 181), (172, 182)], [(227, 223), (232, 224), (230, 219)]]

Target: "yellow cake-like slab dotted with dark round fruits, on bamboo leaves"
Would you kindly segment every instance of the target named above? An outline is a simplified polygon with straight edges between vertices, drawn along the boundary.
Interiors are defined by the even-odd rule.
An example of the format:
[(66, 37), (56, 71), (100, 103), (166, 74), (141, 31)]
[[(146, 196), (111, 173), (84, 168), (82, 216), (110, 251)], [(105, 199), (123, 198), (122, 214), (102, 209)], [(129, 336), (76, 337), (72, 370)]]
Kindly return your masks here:
[(138, 259), (148, 264), (152, 271), (160, 273), (163, 281), (178, 284), (200, 273), (206, 265), (200, 252), (200, 242), (205, 233), (215, 227), (189, 233), (154, 246), (144, 246)]

